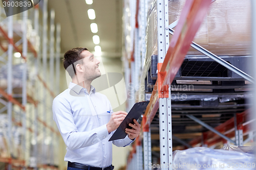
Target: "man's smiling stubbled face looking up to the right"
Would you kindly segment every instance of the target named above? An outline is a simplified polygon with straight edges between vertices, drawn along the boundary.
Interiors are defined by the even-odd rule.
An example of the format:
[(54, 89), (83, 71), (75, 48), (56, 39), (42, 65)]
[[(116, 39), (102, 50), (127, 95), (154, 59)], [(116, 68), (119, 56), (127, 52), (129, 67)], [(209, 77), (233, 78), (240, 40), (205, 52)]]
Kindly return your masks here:
[(93, 81), (94, 79), (101, 76), (99, 70), (99, 60), (94, 58), (94, 55), (89, 51), (84, 50), (81, 55), (84, 57), (82, 59), (82, 67), (85, 70), (83, 72), (84, 80)]

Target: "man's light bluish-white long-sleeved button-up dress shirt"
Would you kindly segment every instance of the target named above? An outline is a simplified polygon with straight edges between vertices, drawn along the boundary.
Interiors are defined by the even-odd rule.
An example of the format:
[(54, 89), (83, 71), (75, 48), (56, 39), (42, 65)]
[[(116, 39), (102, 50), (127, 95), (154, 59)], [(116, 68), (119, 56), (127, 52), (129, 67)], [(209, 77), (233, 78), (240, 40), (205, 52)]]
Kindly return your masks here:
[[(112, 163), (112, 141), (109, 134), (112, 107), (108, 98), (70, 82), (69, 88), (53, 100), (53, 119), (67, 145), (65, 161), (106, 167)], [(115, 140), (117, 147), (125, 147), (133, 140), (128, 136)]]

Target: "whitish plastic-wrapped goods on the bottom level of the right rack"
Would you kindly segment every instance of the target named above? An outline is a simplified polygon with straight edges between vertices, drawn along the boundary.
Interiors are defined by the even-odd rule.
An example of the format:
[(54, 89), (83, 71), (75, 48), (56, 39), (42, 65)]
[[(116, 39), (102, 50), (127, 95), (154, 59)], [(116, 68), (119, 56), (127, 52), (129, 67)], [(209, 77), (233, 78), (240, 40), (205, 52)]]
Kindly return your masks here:
[(253, 154), (236, 151), (212, 150), (205, 147), (196, 147), (184, 151), (174, 151), (173, 169), (254, 169)]

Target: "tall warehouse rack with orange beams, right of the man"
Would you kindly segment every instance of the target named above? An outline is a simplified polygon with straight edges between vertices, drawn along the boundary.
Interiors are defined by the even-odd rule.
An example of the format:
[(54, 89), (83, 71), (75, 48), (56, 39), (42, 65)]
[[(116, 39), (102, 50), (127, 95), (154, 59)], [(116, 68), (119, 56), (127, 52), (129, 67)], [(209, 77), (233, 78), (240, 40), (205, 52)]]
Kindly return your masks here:
[[(174, 145), (177, 145), (178, 143), (183, 144), (185, 146), (183, 149), (186, 149), (201, 145), (206, 147), (215, 147), (218, 142), (229, 142), (237, 145), (243, 145), (243, 142), (248, 142), (249, 140), (253, 139), (255, 134), (253, 134), (254, 132), (250, 126), (253, 122), (255, 122), (255, 119), (248, 120), (250, 117), (249, 113), (251, 113), (251, 111), (246, 110), (246, 108), (250, 107), (251, 105), (246, 104), (244, 101), (244, 99), (248, 98), (248, 96), (250, 98), (250, 91), (242, 90), (240, 92), (235, 92), (233, 90), (234, 88), (252, 88), (250, 83), (245, 83), (245, 80), (251, 83), (254, 82), (254, 79), (246, 74), (246, 72), (249, 72), (250, 70), (244, 67), (250, 56), (219, 57), (210, 53), (195, 42), (192, 42), (204, 18), (202, 13), (206, 14), (210, 3), (214, 3), (214, 1), (187, 1), (179, 21), (168, 25), (168, 1), (158, 0), (158, 55), (153, 55), (152, 60), (149, 63), (144, 64), (144, 36), (146, 27), (146, 23), (144, 21), (146, 20), (145, 16), (147, 14), (147, 7), (145, 6), (147, 3), (148, 1), (124, 2), (123, 16), (125, 16), (124, 23), (126, 26), (124, 28), (124, 39), (126, 40), (124, 41), (124, 63), (126, 64), (125, 82), (126, 87), (129, 87), (127, 88), (128, 97), (132, 95), (136, 96), (135, 99), (130, 98), (128, 101), (127, 110), (130, 110), (134, 102), (146, 100), (147, 98), (148, 94), (145, 94), (145, 98), (140, 97), (142, 90), (136, 88), (138, 85), (145, 85), (145, 92), (152, 93), (150, 104), (148, 104), (141, 121), (143, 135), (141, 134), (141, 136), (136, 139), (136, 142), (133, 145), (133, 150), (129, 154), (126, 169), (143, 168), (141, 164), (142, 146), (144, 169), (150, 169), (150, 167), (148, 167), (148, 163), (158, 163), (157, 160), (154, 160), (151, 157), (156, 155), (156, 152), (154, 152), (157, 151), (157, 149), (154, 147), (155, 145), (160, 146), (160, 149), (158, 150), (160, 151), (160, 164), (163, 165), (165, 163), (172, 163), (172, 151), (174, 149)], [(191, 6), (193, 6), (194, 9), (191, 8)], [(195, 23), (195, 19), (200, 20), (200, 23)], [(131, 28), (131, 26), (135, 27)], [(174, 27), (176, 27), (175, 34), (173, 30)], [(182, 36), (180, 36), (181, 32)], [(171, 45), (168, 48), (169, 35), (173, 35), (173, 38), (170, 42)], [(186, 56), (185, 58), (190, 44), (203, 55), (197, 58), (193, 56)], [(129, 67), (129, 64), (127, 63), (129, 63), (131, 66)], [(193, 65), (196, 63), (200, 65), (205, 64), (206, 68), (208, 67), (208, 70), (204, 68), (202, 71), (203, 73), (200, 72), (200, 69), (193, 70), (193, 76), (189, 76), (191, 75), (191, 69), (194, 67)], [(140, 66), (140, 64), (142, 65)], [(192, 66), (189, 67), (189, 65)], [(211, 70), (209, 70), (209, 66), (211, 66)], [(222, 72), (225, 73), (223, 73), (221, 76), (218, 74), (216, 75), (215, 72), (213, 72), (215, 68), (224, 70)], [(187, 72), (185, 72), (186, 70)], [(195, 76), (195, 72), (198, 72), (198, 74), (200, 73), (200, 75)], [(207, 76), (202, 76), (206, 72)], [(188, 98), (190, 97), (192, 101), (176, 102), (172, 100), (171, 105), (170, 100), (172, 94), (177, 94), (179, 91), (173, 91), (172, 89), (171, 94), (170, 86), (177, 85), (177, 80), (208, 80), (219, 81), (221, 84), (194, 84), (195, 89), (213, 90), (211, 92), (188, 91), (186, 95)], [(186, 84), (179, 85), (183, 86)], [(225, 91), (222, 89), (225, 89)], [(209, 98), (209, 96), (214, 96), (214, 98), (223, 97), (224, 99), (224, 97), (232, 98), (236, 95), (240, 95), (242, 99), (237, 99), (234, 102), (230, 101), (221, 105), (216, 103), (216, 99), (211, 100), (210, 102), (200, 101), (200, 103), (195, 103), (195, 95), (197, 95), (197, 99)], [(211, 110), (209, 111), (209, 109)], [(206, 113), (208, 113), (208, 115), (220, 114), (224, 116), (205, 118), (200, 117)], [(176, 115), (180, 118), (176, 118)], [(214, 124), (215, 122), (217, 122), (219, 126), (216, 126), (216, 124)], [(179, 130), (177, 128), (172, 129), (172, 126), (175, 127), (178, 124), (191, 126), (199, 124), (201, 126), (199, 126), (197, 129), (189, 130)], [(183, 131), (184, 133), (198, 132), (197, 136), (192, 137), (197, 138), (193, 140), (183, 140), (180, 138), (181, 136), (174, 135), (174, 133), (180, 131)], [(244, 140), (244, 136), (247, 136), (246, 140)], [(157, 141), (153, 141), (154, 139), (157, 139)], [(172, 169), (172, 167), (163, 169)]]

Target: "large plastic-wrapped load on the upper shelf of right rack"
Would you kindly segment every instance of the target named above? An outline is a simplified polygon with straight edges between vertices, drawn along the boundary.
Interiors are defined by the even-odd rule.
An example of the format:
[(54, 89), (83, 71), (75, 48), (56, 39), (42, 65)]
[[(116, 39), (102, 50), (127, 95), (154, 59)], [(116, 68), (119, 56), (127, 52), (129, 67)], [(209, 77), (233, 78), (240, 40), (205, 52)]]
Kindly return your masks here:
[[(185, 0), (168, 1), (169, 25), (180, 18)], [(216, 55), (244, 56), (250, 53), (250, 1), (216, 0), (201, 24), (194, 42)], [(175, 28), (174, 28), (175, 30)], [(170, 39), (172, 36), (169, 36)], [(148, 13), (146, 62), (157, 54), (156, 1)], [(202, 55), (190, 47), (187, 55)]]

